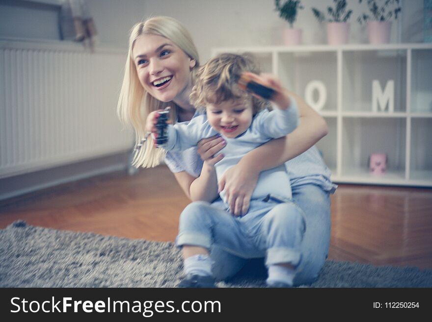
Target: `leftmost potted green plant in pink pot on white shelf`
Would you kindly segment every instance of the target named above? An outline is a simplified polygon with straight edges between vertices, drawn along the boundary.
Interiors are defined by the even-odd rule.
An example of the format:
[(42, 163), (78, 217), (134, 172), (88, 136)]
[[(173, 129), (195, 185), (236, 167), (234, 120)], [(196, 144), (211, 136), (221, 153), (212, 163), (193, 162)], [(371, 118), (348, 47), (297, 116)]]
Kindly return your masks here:
[(304, 9), (300, 0), (274, 0), (275, 11), (279, 12), (279, 17), (288, 22), (289, 28), (282, 30), (282, 38), (285, 45), (299, 45), (302, 41), (302, 30), (294, 28), (299, 10)]

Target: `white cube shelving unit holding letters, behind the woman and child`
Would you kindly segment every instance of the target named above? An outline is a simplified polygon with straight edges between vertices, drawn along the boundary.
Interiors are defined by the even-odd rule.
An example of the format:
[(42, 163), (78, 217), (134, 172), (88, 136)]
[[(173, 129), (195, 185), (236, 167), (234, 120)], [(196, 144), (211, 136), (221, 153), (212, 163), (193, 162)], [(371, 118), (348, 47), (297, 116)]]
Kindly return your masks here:
[[(314, 80), (326, 89), (329, 133), (317, 147), (339, 183), (432, 187), (432, 44), (215, 48), (250, 52), (305, 97)], [(373, 81), (394, 82), (394, 110), (373, 111)], [(314, 99), (319, 94), (314, 92)], [(371, 153), (386, 153), (387, 171), (369, 173)]]

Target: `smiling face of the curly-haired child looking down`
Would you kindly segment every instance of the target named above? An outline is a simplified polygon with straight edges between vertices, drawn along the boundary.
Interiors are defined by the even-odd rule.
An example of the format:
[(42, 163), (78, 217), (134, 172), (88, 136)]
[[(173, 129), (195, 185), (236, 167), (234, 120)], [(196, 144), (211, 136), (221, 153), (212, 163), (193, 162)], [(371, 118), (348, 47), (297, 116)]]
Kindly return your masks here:
[(227, 138), (242, 134), (252, 123), (252, 99), (232, 99), (217, 104), (207, 104), (210, 125)]

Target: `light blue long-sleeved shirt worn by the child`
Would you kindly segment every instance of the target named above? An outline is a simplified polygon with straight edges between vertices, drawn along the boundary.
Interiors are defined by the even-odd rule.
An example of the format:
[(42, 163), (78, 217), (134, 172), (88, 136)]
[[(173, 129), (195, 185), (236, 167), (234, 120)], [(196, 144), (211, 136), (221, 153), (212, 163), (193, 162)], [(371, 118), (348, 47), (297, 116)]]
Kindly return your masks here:
[[(289, 109), (272, 111), (266, 109), (259, 112), (247, 130), (236, 138), (226, 138), (222, 135), (227, 144), (220, 151), (225, 156), (215, 165), (217, 179), (219, 180), (226, 170), (236, 165), (247, 152), (271, 139), (291, 133), (297, 124), (297, 104), (292, 99)], [(192, 118), (189, 123), (168, 125), (167, 133), (168, 141), (165, 149), (173, 151), (189, 149), (196, 146), (201, 139), (217, 134), (205, 114)], [(263, 199), (269, 194), (283, 200), (291, 199), (290, 178), (285, 165), (261, 172), (251, 199)], [(226, 203), (224, 191), (220, 193), (220, 197)]]

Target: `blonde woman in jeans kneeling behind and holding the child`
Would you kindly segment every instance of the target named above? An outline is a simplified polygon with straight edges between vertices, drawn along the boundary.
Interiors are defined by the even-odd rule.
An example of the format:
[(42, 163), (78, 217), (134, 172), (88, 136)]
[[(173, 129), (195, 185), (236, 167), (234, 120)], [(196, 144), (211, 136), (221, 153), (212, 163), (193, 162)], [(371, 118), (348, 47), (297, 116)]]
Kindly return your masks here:
[[(133, 125), (137, 142), (146, 135), (145, 120), (152, 111), (170, 106), (173, 123), (188, 122), (195, 115), (189, 95), (198, 67), (198, 53), (189, 32), (177, 20), (154, 17), (132, 28), (118, 113), (123, 122)], [(298, 285), (315, 280), (327, 256), (329, 194), (335, 186), (318, 150), (313, 147), (327, 133), (325, 121), (301, 98), (294, 93), (290, 95), (298, 104), (298, 127), (286, 137), (248, 152), (224, 174), (219, 187), (214, 165), (223, 157), (215, 156), (224, 147), (221, 138), (205, 139), (197, 148), (166, 155), (163, 149), (154, 147), (150, 138), (137, 153), (134, 163), (153, 167), (165, 157), (165, 163), (192, 201), (213, 201), (218, 189), (225, 190), (234, 215), (247, 212), (259, 173), (285, 163), (293, 199), (306, 224), (294, 279), (294, 285)], [(246, 261), (219, 248), (212, 248), (211, 257), (218, 259), (216, 263), (229, 263), (212, 268), (217, 279), (234, 275)]]

